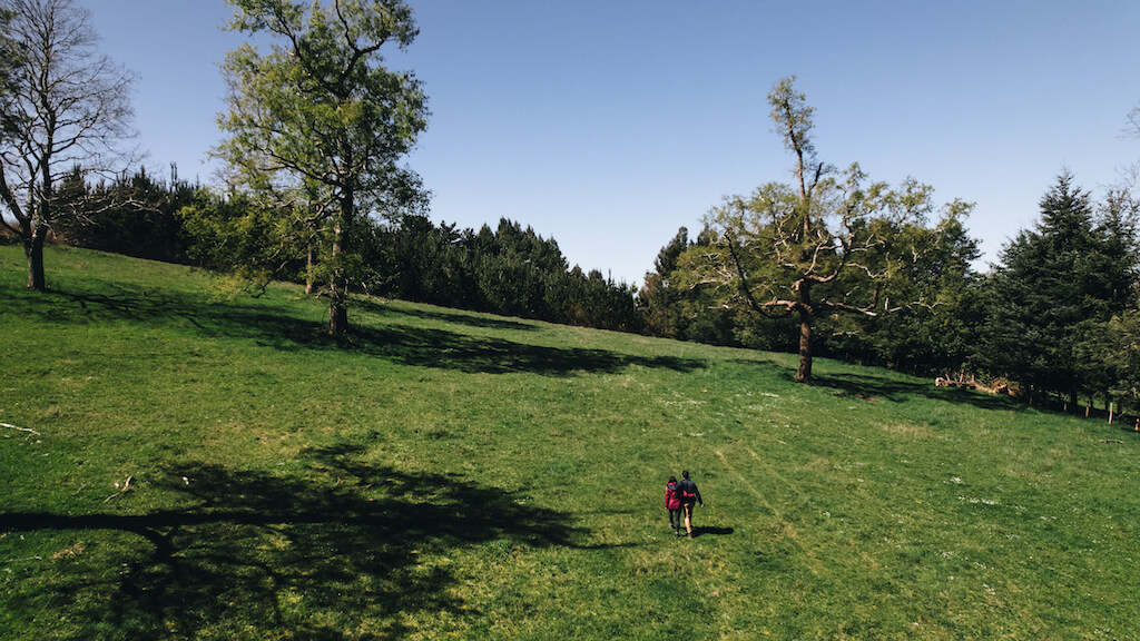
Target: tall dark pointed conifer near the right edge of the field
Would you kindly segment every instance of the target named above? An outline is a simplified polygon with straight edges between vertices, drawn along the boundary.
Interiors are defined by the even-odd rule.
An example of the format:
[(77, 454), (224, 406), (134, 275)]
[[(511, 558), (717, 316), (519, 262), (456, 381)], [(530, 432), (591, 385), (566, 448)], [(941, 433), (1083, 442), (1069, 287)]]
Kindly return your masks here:
[(984, 366), (1074, 403), (1099, 392), (1096, 343), (1113, 315), (1132, 302), (1137, 260), (1123, 212), (1098, 224), (1091, 196), (1062, 173), (1041, 200), (1041, 220), (1002, 251)]

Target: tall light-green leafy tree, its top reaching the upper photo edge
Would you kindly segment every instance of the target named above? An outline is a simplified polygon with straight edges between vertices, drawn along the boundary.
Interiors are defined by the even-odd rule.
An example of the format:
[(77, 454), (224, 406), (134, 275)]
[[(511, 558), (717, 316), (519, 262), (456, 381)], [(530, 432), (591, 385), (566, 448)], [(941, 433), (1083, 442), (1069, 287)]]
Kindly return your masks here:
[[(262, 54), (226, 56), (228, 136), (218, 148), (236, 184), (279, 214), (280, 251), (317, 243), (317, 278), (328, 283), (328, 332), (348, 330), (348, 294), (363, 274), (359, 243), (369, 214), (397, 216), (425, 202), (400, 167), (426, 127), (425, 97), (410, 73), (385, 68), (381, 49), (407, 47), (417, 30), (402, 0), (228, 0), (230, 27), (268, 33)], [(323, 278), (321, 278), (323, 277)]]

